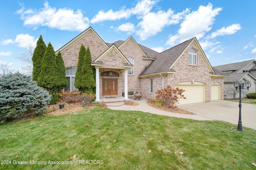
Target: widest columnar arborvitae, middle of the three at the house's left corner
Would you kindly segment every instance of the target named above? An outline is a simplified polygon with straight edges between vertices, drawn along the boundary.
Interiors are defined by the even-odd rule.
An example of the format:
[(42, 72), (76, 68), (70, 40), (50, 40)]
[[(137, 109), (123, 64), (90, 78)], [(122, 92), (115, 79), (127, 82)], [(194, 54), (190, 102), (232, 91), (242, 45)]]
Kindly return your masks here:
[(41, 73), (37, 83), (52, 95), (50, 104), (55, 104), (59, 100), (58, 81), (56, 55), (49, 43), (42, 59)]

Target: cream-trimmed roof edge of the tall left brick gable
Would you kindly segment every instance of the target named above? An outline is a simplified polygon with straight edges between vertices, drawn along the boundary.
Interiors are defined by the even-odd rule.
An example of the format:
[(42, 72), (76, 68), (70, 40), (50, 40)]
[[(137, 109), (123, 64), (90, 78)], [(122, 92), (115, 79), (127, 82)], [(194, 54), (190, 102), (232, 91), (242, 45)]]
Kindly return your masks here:
[(106, 49), (108, 48), (108, 45), (102, 40), (102, 38), (100, 38), (100, 36), (92, 29), (92, 27), (89, 27), (86, 30), (84, 30), (84, 32), (82, 32), (81, 34), (79, 34), (78, 36), (76, 36), (75, 38), (70, 40), (70, 42), (66, 43), (64, 46), (62, 46), (60, 49), (58, 49), (55, 53), (58, 53), (58, 51), (62, 52), (65, 49), (68, 49), (68, 47), (70, 47), (71, 45), (76, 43), (78, 40), (83, 38), (89, 32), (94, 34), (94, 36), (102, 43), (102, 45), (104, 45), (104, 47), (106, 47)]

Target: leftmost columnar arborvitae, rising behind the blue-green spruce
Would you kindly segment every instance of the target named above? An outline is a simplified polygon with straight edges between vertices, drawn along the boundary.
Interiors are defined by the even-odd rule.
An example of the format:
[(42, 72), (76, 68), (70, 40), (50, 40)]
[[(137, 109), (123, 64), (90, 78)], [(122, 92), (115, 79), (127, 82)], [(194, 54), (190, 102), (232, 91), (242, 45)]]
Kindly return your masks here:
[(36, 42), (36, 48), (34, 49), (32, 61), (33, 61), (33, 71), (32, 71), (32, 80), (38, 81), (38, 77), (40, 76), (41, 67), (42, 67), (42, 58), (44, 56), (44, 52), (46, 50), (46, 45), (40, 35), (40, 38)]

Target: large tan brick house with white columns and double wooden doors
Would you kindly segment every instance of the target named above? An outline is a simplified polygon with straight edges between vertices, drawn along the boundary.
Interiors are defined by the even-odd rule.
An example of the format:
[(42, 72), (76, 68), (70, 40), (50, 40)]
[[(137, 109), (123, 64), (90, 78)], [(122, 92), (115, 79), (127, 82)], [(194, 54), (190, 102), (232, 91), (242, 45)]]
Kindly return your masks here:
[(91, 65), (96, 69), (96, 101), (119, 96), (128, 100), (137, 90), (143, 97), (154, 98), (155, 91), (167, 85), (186, 90), (187, 99), (180, 104), (223, 99), (226, 74), (212, 68), (196, 38), (158, 53), (136, 43), (132, 36), (126, 41), (105, 43), (91, 27), (58, 49), (69, 82), (65, 90), (76, 90), (81, 44), (90, 48)]

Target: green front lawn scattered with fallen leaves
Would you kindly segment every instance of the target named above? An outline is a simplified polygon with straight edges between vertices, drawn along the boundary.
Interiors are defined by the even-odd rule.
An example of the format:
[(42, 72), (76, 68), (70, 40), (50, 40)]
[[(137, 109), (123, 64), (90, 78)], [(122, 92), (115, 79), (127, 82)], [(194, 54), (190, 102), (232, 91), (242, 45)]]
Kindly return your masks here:
[[(235, 126), (101, 108), (43, 115), (0, 125), (0, 160), (12, 163), (0, 164), (0, 169), (255, 169), (256, 130), (243, 127), (239, 132)], [(82, 160), (101, 162), (73, 163)]]

